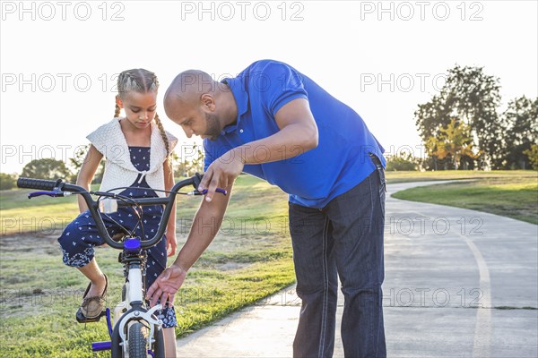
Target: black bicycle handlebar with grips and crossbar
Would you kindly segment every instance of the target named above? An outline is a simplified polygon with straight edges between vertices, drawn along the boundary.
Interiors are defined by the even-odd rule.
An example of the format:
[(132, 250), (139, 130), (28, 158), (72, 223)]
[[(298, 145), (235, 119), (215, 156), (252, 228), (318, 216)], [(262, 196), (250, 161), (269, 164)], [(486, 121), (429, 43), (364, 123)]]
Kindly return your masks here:
[[(178, 194), (178, 191), (187, 185), (193, 185), (196, 189), (201, 179), (202, 179), (202, 175), (199, 175), (196, 173), (195, 176), (192, 176), (188, 179), (185, 179), (176, 183), (174, 187), (171, 189), (169, 196), (167, 198), (161, 198), (161, 197), (141, 198), (141, 199), (129, 198), (128, 201), (132, 202), (134, 205), (141, 205), (141, 206), (165, 205), (164, 212), (162, 213), (162, 217), (161, 217), (161, 223), (159, 225), (159, 229), (157, 233), (152, 237), (152, 239), (141, 241), (142, 248), (152, 247), (156, 243), (159, 243), (159, 241), (161, 241), (162, 235), (164, 234), (166, 230), (166, 223), (169, 220), (170, 213), (172, 212), (172, 209), (173, 209), (173, 203), (174, 203), (174, 200), (176, 199), (176, 195)], [(97, 226), (99, 234), (101, 235), (101, 237), (105, 239), (105, 243), (107, 243), (108, 246), (111, 246), (115, 249), (119, 249), (119, 250), (124, 249), (124, 243), (118, 243), (112, 240), (112, 238), (108, 234), (105, 224), (103, 223), (102, 217), (99, 215), (97, 201), (93, 200), (93, 198), (91, 198), (90, 192), (88, 192), (86, 189), (82, 188), (81, 186), (62, 182), (61, 179), (54, 181), (54, 180), (32, 179), (32, 178), (24, 178), (24, 177), (21, 177), (17, 180), (17, 186), (19, 188), (27, 188), (27, 189), (74, 192), (79, 195), (82, 195), (82, 198), (84, 198), (84, 200), (88, 204), (88, 209), (90, 210), (91, 217), (93, 217), (93, 219), (95, 220), (95, 225)], [(118, 200), (118, 206), (130, 206), (130, 204), (128, 202), (122, 202), (122, 200)]]

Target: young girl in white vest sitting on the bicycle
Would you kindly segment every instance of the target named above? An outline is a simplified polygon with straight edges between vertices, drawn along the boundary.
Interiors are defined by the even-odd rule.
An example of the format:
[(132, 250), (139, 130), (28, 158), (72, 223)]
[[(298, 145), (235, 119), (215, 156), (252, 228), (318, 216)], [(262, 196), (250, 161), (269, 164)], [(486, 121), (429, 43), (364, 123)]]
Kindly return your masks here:
[[(106, 192), (118, 187), (132, 187), (117, 190), (116, 193), (132, 198), (164, 196), (163, 192), (152, 189), (170, 190), (174, 179), (170, 168), (169, 154), (174, 149), (177, 138), (164, 131), (156, 114), (159, 81), (153, 72), (143, 69), (121, 72), (117, 78), (116, 113), (108, 124), (101, 125), (88, 135), (91, 147), (88, 151), (77, 184), (90, 190), (101, 158), (106, 158), (105, 172), (100, 191)], [(121, 108), (125, 117), (119, 117)], [(81, 214), (65, 227), (58, 242), (64, 252), (64, 263), (78, 268), (91, 283), (86, 288), (80, 310), (86, 318), (95, 318), (104, 308), (108, 277), (104, 275), (94, 257), (94, 246), (104, 243), (89, 214), (86, 202), (79, 197)], [(161, 220), (162, 207), (143, 207), (143, 232), (145, 238), (152, 238)], [(110, 235), (120, 234), (120, 226), (132, 230), (137, 223), (133, 209), (120, 208), (117, 213), (103, 215), (103, 221)], [(136, 234), (141, 235), (140, 227)], [(166, 240), (147, 251), (145, 286), (152, 286), (155, 278), (166, 268), (169, 256), (176, 251), (176, 208), (172, 209), (167, 226)], [(166, 356), (176, 356), (177, 327), (176, 314), (168, 305), (160, 311), (164, 322)]]

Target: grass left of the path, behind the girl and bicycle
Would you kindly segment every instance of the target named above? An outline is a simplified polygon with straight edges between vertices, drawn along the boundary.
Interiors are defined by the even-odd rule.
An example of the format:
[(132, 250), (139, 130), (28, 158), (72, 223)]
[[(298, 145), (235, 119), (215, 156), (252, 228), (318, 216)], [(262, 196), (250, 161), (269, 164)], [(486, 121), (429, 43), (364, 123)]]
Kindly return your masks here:
[[(65, 217), (64, 225), (78, 212), (73, 198), (28, 200), (22, 190), (1, 195), (3, 219), (8, 217), (5, 213), (24, 220), (33, 217), (36, 222), (56, 216)], [(178, 337), (295, 281), (285, 221), (286, 194), (241, 175), (232, 195), (219, 234), (189, 271), (176, 296)], [(27, 205), (28, 201), (37, 205)], [(186, 240), (199, 202), (199, 197), (179, 198), (179, 246)], [(22, 229), (27, 230), (15, 227), (10, 234), (0, 236), (0, 356), (91, 357), (91, 342), (108, 339), (104, 321), (84, 327), (74, 320), (87, 281), (62, 263), (56, 243), (62, 227), (42, 233), (26, 225)], [(123, 283), (117, 252), (97, 249), (100, 267), (109, 277), (109, 307), (119, 302)]]

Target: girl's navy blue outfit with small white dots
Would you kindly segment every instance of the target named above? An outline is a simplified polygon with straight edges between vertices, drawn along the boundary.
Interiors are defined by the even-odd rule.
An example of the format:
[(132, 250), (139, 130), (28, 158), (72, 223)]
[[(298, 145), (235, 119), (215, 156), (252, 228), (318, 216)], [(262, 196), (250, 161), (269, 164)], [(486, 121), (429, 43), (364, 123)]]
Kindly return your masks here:
[[(149, 147), (129, 147), (131, 162), (139, 171), (150, 169), (150, 148)], [(121, 192), (131, 198), (154, 198), (158, 195), (150, 188), (142, 175), (138, 175), (131, 188)], [(140, 183), (138, 183), (140, 182)], [(161, 221), (162, 206), (143, 207), (143, 234), (146, 239), (151, 239), (159, 228)], [(120, 226), (126, 227), (131, 231), (137, 223), (137, 216), (134, 209), (118, 208), (113, 214), (102, 214), (103, 222), (107, 227), (108, 234), (111, 236), (121, 233)], [(142, 228), (138, 226), (135, 234), (142, 237)], [(97, 226), (91, 217), (89, 211), (84, 211), (76, 217), (64, 229), (62, 235), (58, 238), (58, 243), (64, 253), (64, 263), (74, 268), (82, 268), (93, 259), (95, 251), (94, 246), (100, 246), (105, 243), (100, 237)], [(166, 268), (167, 252), (166, 237), (152, 248), (147, 250), (148, 258), (146, 265), (146, 289), (152, 286), (155, 279)], [(173, 307), (165, 307), (160, 311), (158, 317), (163, 321), (163, 328), (177, 327), (176, 312)]]

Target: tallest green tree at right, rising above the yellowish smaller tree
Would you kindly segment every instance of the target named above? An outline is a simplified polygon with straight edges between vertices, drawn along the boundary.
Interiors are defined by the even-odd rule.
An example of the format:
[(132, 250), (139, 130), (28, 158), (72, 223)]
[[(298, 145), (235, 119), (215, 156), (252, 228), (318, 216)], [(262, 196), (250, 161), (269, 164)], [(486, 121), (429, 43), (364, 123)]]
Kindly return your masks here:
[(499, 79), (484, 73), (483, 67), (456, 65), (448, 70), (447, 81), (439, 94), (419, 105), (414, 113), (422, 141), (428, 144), (432, 136), (439, 138), (441, 129), (447, 129), (451, 119), (458, 118), (469, 126), (472, 143), (482, 151), (486, 163), (497, 168), (503, 148), (497, 114), (499, 89)]

